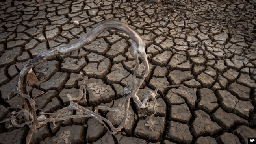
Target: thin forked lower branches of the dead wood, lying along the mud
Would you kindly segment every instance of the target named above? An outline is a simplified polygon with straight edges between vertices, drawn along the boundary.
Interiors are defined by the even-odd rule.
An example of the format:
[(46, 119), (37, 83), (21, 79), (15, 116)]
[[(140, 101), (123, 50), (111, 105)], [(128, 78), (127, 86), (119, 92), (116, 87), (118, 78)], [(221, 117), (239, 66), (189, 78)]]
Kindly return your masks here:
[[(23, 94), (15, 89), (13, 89), (14, 92), (16, 92), (17, 94), (19, 94), (20, 96), (28, 99), (30, 101), (30, 103), (35, 103), (34, 100), (32, 98), (30, 98), (30, 96), (26, 95), (26, 94)], [(6, 119), (6, 120), (3, 120), (1, 121), (0, 123), (3, 123), (3, 122), (7, 122), (7, 121), (11, 121), (12, 125), (14, 127), (23, 127), (25, 125), (29, 125), (30, 127), (30, 133), (28, 133), (27, 137), (26, 137), (26, 144), (29, 144), (30, 141), (31, 141), (31, 138), (33, 136), (33, 133), (36, 129), (39, 129), (40, 127), (42, 127), (43, 125), (47, 124), (48, 122), (53, 122), (54, 126), (56, 127), (56, 124), (55, 122), (58, 122), (58, 121), (63, 121), (63, 120), (67, 120), (67, 119), (70, 119), (70, 118), (85, 118), (85, 117), (93, 117), (95, 119), (97, 119), (100, 123), (102, 123), (107, 129), (108, 129), (108, 126), (110, 127), (110, 129), (108, 129), (109, 133), (111, 134), (115, 134), (117, 133), (118, 131), (121, 131), (121, 129), (126, 125), (126, 122), (127, 122), (127, 116), (128, 116), (128, 109), (129, 109), (129, 103), (130, 103), (130, 99), (128, 99), (126, 101), (126, 105), (125, 105), (125, 113), (124, 113), (124, 120), (122, 121), (122, 123), (117, 127), (115, 128), (113, 126), (113, 124), (107, 120), (106, 118), (94, 113), (93, 111), (90, 111), (88, 109), (86, 109), (85, 107), (82, 107), (81, 105), (77, 104), (77, 103), (74, 103), (72, 101), (72, 97), (67, 94), (67, 98), (70, 102), (69, 106), (67, 107), (64, 107), (54, 113), (39, 113), (41, 114), (40, 116), (36, 117), (36, 114), (35, 113), (28, 113), (26, 112), (25, 109), (21, 109), (18, 113), (13, 111), (12, 112), (12, 116), (11, 118), (9, 119)], [(81, 97), (82, 98), (82, 97)], [(33, 104), (32, 104), (33, 105)], [(68, 110), (76, 110), (76, 111), (79, 111), (79, 112), (82, 112), (83, 114), (86, 114), (86, 115), (72, 115), (72, 116), (65, 116), (65, 117), (59, 117), (59, 115), (61, 113), (64, 113), (65, 111), (68, 111)], [(35, 110), (35, 107), (33, 107), (33, 110)], [(31, 121), (29, 122), (24, 122), (22, 124), (17, 124), (17, 116), (19, 116), (20, 114), (22, 113), (28, 113), (28, 115), (30, 115), (30, 118), (32, 119)], [(50, 115), (49, 118), (46, 118), (45, 115)], [(36, 117), (36, 118), (35, 118)], [(108, 126), (106, 126), (106, 124), (108, 124)]]

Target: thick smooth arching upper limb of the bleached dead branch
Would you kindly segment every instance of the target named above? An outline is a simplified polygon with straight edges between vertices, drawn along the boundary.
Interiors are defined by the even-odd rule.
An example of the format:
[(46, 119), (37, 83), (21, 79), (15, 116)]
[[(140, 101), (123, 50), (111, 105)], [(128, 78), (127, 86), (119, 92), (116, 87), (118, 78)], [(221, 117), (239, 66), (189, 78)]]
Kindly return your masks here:
[[(104, 32), (105, 30), (117, 30), (130, 36), (130, 38), (132, 39), (131, 54), (136, 61), (133, 79), (136, 78), (139, 71), (138, 54), (141, 56), (143, 64), (145, 66), (145, 71), (143, 71), (143, 73), (141, 74), (141, 78), (145, 78), (145, 75), (149, 70), (147, 55), (145, 52), (145, 42), (143, 41), (139, 33), (134, 30), (134, 28), (131, 28), (128, 24), (117, 20), (107, 20), (96, 24), (95, 27), (85, 33), (85, 35), (80, 37), (80, 39), (77, 39), (76, 41), (69, 44), (51, 48), (45, 52), (42, 52), (41, 54), (37, 55), (37, 57), (29, 61), (20, 71), (19, 81), (17, 85), (18, 90), (22, 93), (27, 93), (26, 85), (24, 85), (24, 80), (26, 78), (26, 74), (28, 74), (28, 71), (31, 68), (34, 68), (39, 63), (42, 63), (56, 55), (65, 55), (74, 50), (79, 50), (83, 46), (93, 42), (98, 37), (98, 35), (100, 35), (100, 33)], [(131, 89), (131, 86), (129, 87), (129, 89)]]

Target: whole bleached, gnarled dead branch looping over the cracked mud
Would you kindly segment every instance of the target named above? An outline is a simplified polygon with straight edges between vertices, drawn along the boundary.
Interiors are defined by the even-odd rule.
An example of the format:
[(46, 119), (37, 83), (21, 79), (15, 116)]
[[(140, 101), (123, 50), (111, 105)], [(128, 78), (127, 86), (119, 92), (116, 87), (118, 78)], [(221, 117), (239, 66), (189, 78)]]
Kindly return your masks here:
[[(122, 102), (122, 105), (121, 105), (122, 107), (125, 105), (124, 120), (122, 121), (122, 123), (117, 128), (115, 128), (113, 124), (106, 118), (103, 118), (102, 116), (94, 113), (93, 111), (90, 111), (85, 107), (82, 107), (81, 105), (78, 105), (77, 103), (73, 102), (73, 100), (80, 100), (82, 98), (86, 100), (86, 92), (83, 93), (83, 90), (85, 91), (84, 84), (85, 84), (85, 80), (87, 80), (87, 77), (85, 77), (82, 81), (78, 98), (72, 98), (70, 95), (67, 95), (70, 102), (70, 105), (68, 107), (64, 107), (63, 109), (56, 111), (55, 113), (40, 113), (41, 115), (37, 117), (35, 101), (32, 98), (30, 98), (30, 96), (27, 95), (28, 92), (27, 92), (26, 75), (28, 74), (28, 71), (34, 68), (35, 66), (39, 65), (40, 63), (43, 63), (44, 61), (47, 61), (48, 59), (55, 57), (56, 55), (65, 55), (72, 51), (79, 50), (83, 46), (93, 42), (98, 37), (98, 35), (100, 35), (100, 33), (106, 30), (116, 30), (121, 33), (126, 33), (127, 35), (130, 36), (130, 38), (132, 39), (131, 55), (132, 57), (134, 57), (136, 62), (135, 71), (132, 77), (132, 84), (128, 88), (124, 88), (124, 90), (122, 91), (122, 95), (125, 95), (124, 101)], [(143, 65), (145, 66), (145, 70), (140, 74), (139, 81), (136, 80), (136, 77), (139, 75), (139, 66), (140, 66), (138, 54), (141, 56)], [(96, 24), (95, 27), (93, 27), (85, 35), (80, 37), (80, 39), (77, 39), (72, 43), (57, 46), (55, 48), (51, 48), (45, 52), (42, 52), (41, 54), (37, 55), (37, 57), (30, 60), (26, 65), (24, 65), (24, 67), (20, 71), (17, 90), (13, 90), (14, 92), (16, 92), (16, 94), (19, 94), (19, 96), (21, 96), (22, 100), (24, 101), (25, 107), (24, 107), (24, 110), (20, 111), (20, 113), (24, 113), (24, 117), (26, 118), (25, 124), (31, 124), (30, 125), (31, 131), (26, 137), (26, 143), (27, 144), (30, 143), (30, 140), (32, 138), (32, 135), (35, 129), (40, 128), (41, 126), (47, 124), (48, 122), (53, 122), (55, 125), (55, 122), (66, 120), (69, 118), (82, 118), (82, 117), (89, 116), (101, 122), (108, 129), (109, 133), (113, 134), (118, 131), (121, 131), (121, 129), (125, 126), (127, 121), (130, 98), (134, 98), (135, 103), (138, 104), (138, 107), (141, 107), (141, 108), (147, 107), (147, 105), (145, 104), (141, 105), (141, 102), (139, 101), (139, 98), (137, 96), (137, 92), (139, 90), (139, 87), (145, 80), (145, 75), (148, 73), (148, 70), (149, 70), (149, 65), (148, 65), (147, 55), (145, 52), (145, 42), (143, 41), (143, 39), (141, 38), (141, 36), (136, 30), (131, 28), (128, 24), (121, 21), (117, 21), (117, 20), (107, 20), (107, 21), (100, 22)], [(29, 103), (26, 102), (26, 99), (28, 100)], [(61, 113), (69, 109), (82, 112), (83, 114), (85, 114), (85, 116), (76, 115), (76, 116), (66, 116), (63, 118), (59, 118)], [(115, 110), (115, 108), (110, 110)], [(48, 114), (49, 118), (46, 118), (44, 114)], [(19, 125), (17, 124), (17, 122), (15, 122), (16, 117), (17, 116), (13, 115), (12, 118), (10, 119), (13, 122), (13, 124), (17, 127), (24, 126), (24, 124)], [(108, 126), (106, 126), (106, 124), (108, 124)]]

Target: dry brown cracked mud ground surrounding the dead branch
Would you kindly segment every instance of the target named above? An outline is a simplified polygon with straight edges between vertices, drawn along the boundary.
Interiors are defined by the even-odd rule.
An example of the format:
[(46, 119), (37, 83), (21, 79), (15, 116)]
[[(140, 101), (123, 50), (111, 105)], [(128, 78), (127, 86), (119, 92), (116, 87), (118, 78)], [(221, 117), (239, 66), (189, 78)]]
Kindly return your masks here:
[[(10, 118), (8, 107), (22, 105), (19, 97), (7, 96), (30, 59), (111, 19), (127, 22), (147, 45), (150, 72), (138, 93), (141, 100), (156, 87), (187, 88), (158, 90), (153, 131), (148, 127), (153, 102), (147, 109), (136, 109), (131, 102), (126, 127), (115, 135), (95, 119), (74, 118), (41, 127), (31, 143), (245, 144), (256, 137), (256, 0), (1, 1), (0, 120)], [(35, 99), (38, 112), (69, 105), (65, 96), (78, 96), (79, 72), (89, 77), (88, 102), (77, 103), (91, 110), (120, 105), (120, 92), (134, 72), (130, 45), (128, 35), (105, 31), (82, 49), (33, 68), (27, 76), (30, 95), (45, 92)], [(118, 126), (123, 112), (100, 114)], [(22, 116), (18, 119), (24, 122)], [(24, 143), (28, 131), (27, 126), (0, 124), (0, 143)]]

